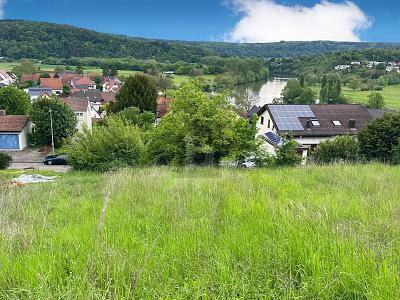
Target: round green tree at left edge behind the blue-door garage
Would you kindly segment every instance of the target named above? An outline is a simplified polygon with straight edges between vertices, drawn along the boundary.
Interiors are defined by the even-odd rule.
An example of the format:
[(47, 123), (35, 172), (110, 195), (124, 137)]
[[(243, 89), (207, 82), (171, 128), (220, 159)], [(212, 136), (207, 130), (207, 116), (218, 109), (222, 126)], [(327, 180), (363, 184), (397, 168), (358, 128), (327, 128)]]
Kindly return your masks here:
[(13, 86), (0, 89), (0, 109), (9, 115), (27, 115), (31, 110), (29, 95)]

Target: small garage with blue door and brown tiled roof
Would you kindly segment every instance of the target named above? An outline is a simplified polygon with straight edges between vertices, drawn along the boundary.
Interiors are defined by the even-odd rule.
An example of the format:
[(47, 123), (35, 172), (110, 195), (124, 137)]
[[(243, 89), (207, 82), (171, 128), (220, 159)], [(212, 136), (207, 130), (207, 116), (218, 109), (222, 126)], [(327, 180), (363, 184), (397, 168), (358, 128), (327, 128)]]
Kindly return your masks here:
[(28, 116), (7, 116), (0, 110), (0, 151), (20, 151), (28, 147), (32, 122)]

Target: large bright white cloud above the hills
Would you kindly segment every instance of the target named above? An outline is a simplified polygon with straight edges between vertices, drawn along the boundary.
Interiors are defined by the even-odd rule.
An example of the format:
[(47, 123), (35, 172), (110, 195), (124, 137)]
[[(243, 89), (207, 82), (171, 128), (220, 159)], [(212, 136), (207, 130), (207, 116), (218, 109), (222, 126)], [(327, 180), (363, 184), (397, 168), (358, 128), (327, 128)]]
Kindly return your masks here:
[(273, 0), (228, 0), (241, 19), (227, 34), (234, 42), (360, 41), (372, 22), (353, 2), (322, 1), (313, 7)]

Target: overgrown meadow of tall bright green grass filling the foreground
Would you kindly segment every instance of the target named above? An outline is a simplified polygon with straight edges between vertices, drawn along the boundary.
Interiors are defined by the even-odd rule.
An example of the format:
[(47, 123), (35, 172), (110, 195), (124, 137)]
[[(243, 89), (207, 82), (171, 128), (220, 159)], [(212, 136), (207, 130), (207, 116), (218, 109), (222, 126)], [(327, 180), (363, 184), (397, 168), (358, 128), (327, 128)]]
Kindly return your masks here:
[(399, 299), (399, 182), (360, 165), (3, 186), (0, 298)]

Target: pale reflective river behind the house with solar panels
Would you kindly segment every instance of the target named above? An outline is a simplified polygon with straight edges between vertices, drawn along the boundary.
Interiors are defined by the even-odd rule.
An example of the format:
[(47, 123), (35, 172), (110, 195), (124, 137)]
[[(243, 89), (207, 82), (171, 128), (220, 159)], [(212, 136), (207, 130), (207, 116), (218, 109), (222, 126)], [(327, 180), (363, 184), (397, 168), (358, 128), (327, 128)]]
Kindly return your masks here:
[(239, 94), (251, 94), (257, 106), (271, 104), (275, 98), (280, 98), (289, 78), (270, 78), (267, 81), (257, 81), (241, 84), (235, 87)]

